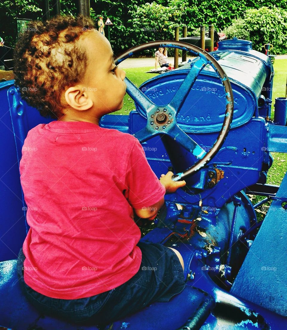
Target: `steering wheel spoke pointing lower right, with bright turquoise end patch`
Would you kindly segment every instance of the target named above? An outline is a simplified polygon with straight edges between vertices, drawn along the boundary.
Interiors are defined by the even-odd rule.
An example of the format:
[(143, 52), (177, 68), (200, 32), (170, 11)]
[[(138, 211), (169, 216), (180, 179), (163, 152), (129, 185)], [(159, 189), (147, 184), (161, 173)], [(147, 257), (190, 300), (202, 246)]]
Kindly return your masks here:
[(206, 151), (201, 148), (191, 137), (184, 133), (176, 124), (167, 132), (175, 141), (191, 152), (198, 160), (202, 159), (206, 155)]

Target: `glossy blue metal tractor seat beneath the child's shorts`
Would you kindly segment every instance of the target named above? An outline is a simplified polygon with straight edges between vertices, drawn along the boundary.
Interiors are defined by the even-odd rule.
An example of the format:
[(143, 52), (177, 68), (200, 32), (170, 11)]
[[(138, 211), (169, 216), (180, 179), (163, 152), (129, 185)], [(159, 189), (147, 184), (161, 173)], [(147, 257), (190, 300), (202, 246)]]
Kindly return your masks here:
[[(0, 262), (0, 327), (14, 330), (97, 330), (93, 326), (79, 326), (49, 316), (40, 315), (23, 295), (16, 271), (17, 260)], [(168, 303), (153, 303), (142, 311), (114, 322), (112, 328), (129, 330), (175, 330), (187, 320), (206, 319), (215, 303), (207, 293), (191, 286), (174, 296)], [(160, 315), (160, 317), (159, 317)], [(201, 320), (202, 319), (202, 320)]]

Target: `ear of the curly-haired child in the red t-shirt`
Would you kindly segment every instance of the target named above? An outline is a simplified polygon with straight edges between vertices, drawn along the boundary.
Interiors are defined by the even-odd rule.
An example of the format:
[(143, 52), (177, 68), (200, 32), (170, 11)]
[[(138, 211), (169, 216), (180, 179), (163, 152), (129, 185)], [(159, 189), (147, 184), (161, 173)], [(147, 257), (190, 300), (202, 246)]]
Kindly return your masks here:
[(69, 87), (65, 92), (65, 99), (69, 106), (76, 110), (88, 110), (93, 106), (93, 101), (80, 86)]

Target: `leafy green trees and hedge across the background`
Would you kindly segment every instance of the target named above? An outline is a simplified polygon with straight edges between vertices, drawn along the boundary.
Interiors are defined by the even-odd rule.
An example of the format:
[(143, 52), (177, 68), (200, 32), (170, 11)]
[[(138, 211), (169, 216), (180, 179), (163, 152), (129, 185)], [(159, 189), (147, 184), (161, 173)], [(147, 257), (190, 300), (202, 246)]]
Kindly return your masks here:
[[(76, 3), (60, 0), (61, 12), (76, 15)], [(255, 49), (271, 42), (276, 52), (287, 52), (286, 0), (91, 0), (90, 4), (95, 21), (99, 16), (104, 22), (111, 19), (111, 44), (116, 55), (144, 42), (173, 39), (175, 25), (187, 25), (190, 36), (199, 31), (200, 25), (209, 24), (214, 24), (217, 31), (228, 28), (230, 37), (248, 39), (250, 35)], [(0, 36), (5, 45), (13, 47), (16, 42), (16, 17), (42, 19), (41, 7), (41, 0), (0, 2)], [(105, 33), (107, 36), (107, 26)]]

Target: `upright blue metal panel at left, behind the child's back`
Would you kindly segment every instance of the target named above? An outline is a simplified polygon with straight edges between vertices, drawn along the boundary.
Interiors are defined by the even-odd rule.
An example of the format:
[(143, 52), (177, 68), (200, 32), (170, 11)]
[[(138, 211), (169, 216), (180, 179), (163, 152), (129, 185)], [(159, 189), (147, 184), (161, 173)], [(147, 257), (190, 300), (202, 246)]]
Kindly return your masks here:
[(16, 258), (27, 233), (25, 203), (19, 178), (21, 149), (27, 132), (39, 123), (47, 123), (39, 112), (21, 100), (14, 81), (0, 83), (1, 131), (0, 261)]

